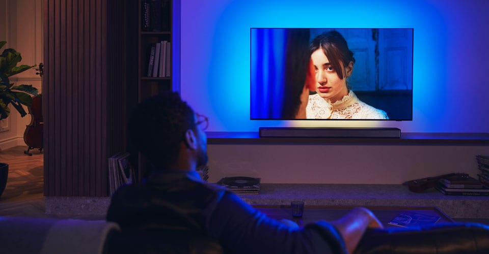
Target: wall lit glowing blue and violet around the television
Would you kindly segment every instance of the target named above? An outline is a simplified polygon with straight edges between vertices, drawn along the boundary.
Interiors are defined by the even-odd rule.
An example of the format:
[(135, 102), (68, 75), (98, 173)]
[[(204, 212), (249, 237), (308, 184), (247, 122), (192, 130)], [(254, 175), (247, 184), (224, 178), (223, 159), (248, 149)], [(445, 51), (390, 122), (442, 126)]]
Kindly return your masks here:
[[(489, 1), (183, 0), (181, 94), (209, 131), (259, 126), (393, 126), (489, 132)], [(250, 120), (251, 27), (414, 28), (413, 121)]]

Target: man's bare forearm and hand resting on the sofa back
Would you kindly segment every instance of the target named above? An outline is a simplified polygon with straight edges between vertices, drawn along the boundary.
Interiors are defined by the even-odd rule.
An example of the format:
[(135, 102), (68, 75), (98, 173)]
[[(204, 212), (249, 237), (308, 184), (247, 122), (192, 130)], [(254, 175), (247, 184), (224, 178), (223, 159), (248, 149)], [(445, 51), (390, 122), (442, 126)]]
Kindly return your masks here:
[(357, 207), (331, 224), (343, 237), (348, 253), (352, 253), (357, 247), (363, 233), (367, 228), (383, 228), (375, 215), (368, 209)]

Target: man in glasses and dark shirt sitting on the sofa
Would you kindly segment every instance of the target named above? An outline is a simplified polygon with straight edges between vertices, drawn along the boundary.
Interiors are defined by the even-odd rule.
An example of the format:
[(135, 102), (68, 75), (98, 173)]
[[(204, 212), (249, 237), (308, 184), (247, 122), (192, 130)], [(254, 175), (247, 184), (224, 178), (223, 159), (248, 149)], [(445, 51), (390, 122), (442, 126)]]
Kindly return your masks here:
[(351, 253), (367, 228), (382, 228), (365, 208), (299, 228), (268, 218), (228, 189), (203, 181), (196, 168), (207, 163), (207, 124), (175, 92), (139, 104), (129, 120), (129, 135), (153, 168), (141, 183), (117, 190), (107, 220), (122, 232), (187, 230), (231, 253)]

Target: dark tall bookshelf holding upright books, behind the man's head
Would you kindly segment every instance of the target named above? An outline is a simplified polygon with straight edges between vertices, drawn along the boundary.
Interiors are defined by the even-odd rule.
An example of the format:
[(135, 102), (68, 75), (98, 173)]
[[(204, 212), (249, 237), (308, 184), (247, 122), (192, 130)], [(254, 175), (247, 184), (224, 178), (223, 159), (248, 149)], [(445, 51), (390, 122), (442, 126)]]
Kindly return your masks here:
[[(148, 97), (158, 94), (160, 91), (164, 90), (175, 90), (173, 87), (173, 65), (172, 65), (172, 48), (174, 42), (173, 36), (173, 5), (179, 5), (179, 0), (139, 0), (138, 1), (138, 102), (145, 100)], [(148, 11), (145, 8), (150, 8)], [(159, 9), (155, 8), (161, 5)], [(159, 10), (159, 13), (158, 13)], [(145, 15), (149, 15), (149, 24), (146, 22)], [(161, 25), (154, 25), (154, 17), (159, 15)], [(157, 18), (156, 18), (157, 19)], [(151, 24), (153, 22), (153, 24)], [(151, 75), (148, 75), (149, 61), (151, 58), (152, 47), (157, 43), (166, 42), (168, 50), (166, 50), (165, 58), (167, 61), (163, 69), (159, 68), (162, 61), (156, 61), (156, 52), (153, 62), (157, 63), (158, 67), (153, 70), (157, 70), (157, 74), (153, 75), (153, 70)], [(160, 46), (160, 52), (164, 52), (161, 49), (165, 48)], [(156, 51), (156, 50), (155, 50)], [(160, 53), (160, 57), (164, 54)], [(161, 75), (161, 71), (164, 74)], [(146, 172), (147, 161), (145, 158), (138, 154), (138, 180), (141, 180)]]

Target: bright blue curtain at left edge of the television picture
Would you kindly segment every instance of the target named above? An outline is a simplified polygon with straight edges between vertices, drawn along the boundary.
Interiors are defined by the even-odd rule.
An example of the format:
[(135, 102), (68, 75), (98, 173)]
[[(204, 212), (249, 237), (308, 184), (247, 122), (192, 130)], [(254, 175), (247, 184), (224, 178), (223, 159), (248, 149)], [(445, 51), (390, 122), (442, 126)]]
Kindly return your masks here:
[(251, 29), (251, 118), (282, 117), (286, 29)]

